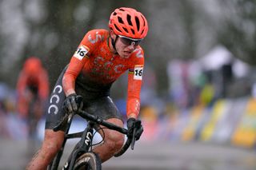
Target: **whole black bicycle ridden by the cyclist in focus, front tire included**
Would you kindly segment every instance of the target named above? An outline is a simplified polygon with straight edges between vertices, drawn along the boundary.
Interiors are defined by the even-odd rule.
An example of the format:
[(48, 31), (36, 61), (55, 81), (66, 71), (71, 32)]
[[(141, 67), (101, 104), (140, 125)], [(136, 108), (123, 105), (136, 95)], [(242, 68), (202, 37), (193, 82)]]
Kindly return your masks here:
[[(71, 121), (75, 114), (78, 114), (80, 117), (86, 119), (87, 126), (82, 132), (69, 133)], [(47, 169), (48, 170), (58, 169), (58, 165), (62, 158), (62, 153), (65, 148), (66, 140), (81, 137), (81, 140), (79, 140), (78, 143), (75, 145), (73, 151), (70, 153), (70, 156), (66, 161), (66, 164), (64, 164), (62, 169), (63, 170), (66, 170), (66, 169), (101, 170), (102, 169), (101, 160), (96, 153), (92, 152), (92, 147), (93, 145), (95, 145), (92, 143), (92, 141), (94, 138), (94, 134), (98, 132), (98, 130), (102, 130), (102, 128), (99, 128), (98, 130), (96, 130), (96, 132), (94, 132), (94, 127), (95, 127), (94, 125), (103, 125), (106, 128), (110, 128), (112, 130), (122, 132), (127, 136), (128, 130), (126, 128), (122, 128), (110, 122), (104, 121), (102, 120), (102, 118), (98, 116), (94, 116), (90, 113), (86, 113), (81, 109), (78, 110), (77, 113), (66, 114), (66, 116), (62, 119), (62, 121), (56, 127), (54, 127), (55, 132), (60, 129), (63, 129), (63, 127), (66, 128), (66, 134), (62, 143), (62, 148), (58, 151), (57, 155), (54, 157), (53, 162), (50, 165), (48, 165)], [(134, 149), (136, 127), (139, 127), (140, 125), (141, 125), (141, 121), (137, 121), (134, 127), (133, 136), (131, 137), (127, 136), (126, 143), (122, 146), (122, 149), (114, 155), (115, 157), (122, 156), (122, 154), (126, 152), (126, 150), (129, 147), (131, 147), (132, 150)], [(102, 138), (103, 138), (102, 140), (104, 140), (104, 136)]]

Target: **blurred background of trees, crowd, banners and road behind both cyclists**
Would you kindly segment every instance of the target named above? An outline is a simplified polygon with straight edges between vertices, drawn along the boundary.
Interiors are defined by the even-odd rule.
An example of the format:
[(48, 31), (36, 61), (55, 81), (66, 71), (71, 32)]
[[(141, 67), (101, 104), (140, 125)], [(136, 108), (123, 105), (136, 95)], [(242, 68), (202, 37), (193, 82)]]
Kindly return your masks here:
[[(7, 152), (0, 169), (24, 169), (43, 138), (44, 116), (35, 147), (26, 147), (26, 121), (16, 109), (24, 61), (41, 59), (51, 91), (86, 32), (108, 29), (110, 13), (121, 6), (149, 22), (142, 42), (145, 131), (134, 151), (105, 169), (255, 169), (254, 0), (0, 1), (0, 147)], [(126, 76), (111, 91), (124, 117)], [(75, 121), (74, 130), (81, 128)]]

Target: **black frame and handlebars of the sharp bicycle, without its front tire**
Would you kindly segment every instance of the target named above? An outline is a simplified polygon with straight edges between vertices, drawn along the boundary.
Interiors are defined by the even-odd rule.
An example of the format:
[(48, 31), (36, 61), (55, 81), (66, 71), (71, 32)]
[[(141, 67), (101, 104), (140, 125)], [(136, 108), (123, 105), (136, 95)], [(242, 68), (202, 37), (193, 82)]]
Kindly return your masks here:
[[(58, 151), (57, 155), (54, 157), (54, 160), (52, 164), (49, 165), (48, 169), (49, 170), (57, 170), (59, 162), (62, 158), (62, 153), (64, 151), (65, 145), (66, 145), (66, 140), (75, 138), (75, 137), (81, 137), (81, 140), (78, 141), (78, 143), (75, 145), (73, 151), (71, 152), (68, 160), (66, 161), (66, 164), (64, 165), (63, 169), (72, 169), (74, 167), (75, 160), (78, 158), (78, 156), (81, 156), (85, 152), (89, 152), (90, 146), (92, 144), (92, 140), (94, 137), (94, 125), (103, 125), (106, 128), (116, 130), (118, 132), (121, 132), (123, 134), (127, 134), (127, 129), (126, 128), (121, 128), (118, 127), (117, 125), (111, 124), (110, 122), (102, 120), (100, 117), (90, 115), (89, 113), (86, 113), (82, 110), (79, 110), (77, 113), (80, 117), (85, 118), (88, 122), (85, 130), (82, 132), (75, 132), (75, 133), (70, 133), (70, 125), (74, 117), (74, 113), (70, 113), (69, 115), (66, 115), (62, 121), (54, 127), (54, 131), (58, 131), (60, 129), (66, 128), (66, 133), (65, 137), (62, 143), (62, 148)], [(134, 131), (136, 128), (134, 128)], [(116, 153), (114, 156), (121, 156), (124, 152), (126, 152), (127, 148), (130, 147), (134, 149), (134, 142), (135, 142), (135, 137), (134, 135), (131, 138), (128, 138), (126, 140), (126, 143), (123, 145), (122, 149)]]

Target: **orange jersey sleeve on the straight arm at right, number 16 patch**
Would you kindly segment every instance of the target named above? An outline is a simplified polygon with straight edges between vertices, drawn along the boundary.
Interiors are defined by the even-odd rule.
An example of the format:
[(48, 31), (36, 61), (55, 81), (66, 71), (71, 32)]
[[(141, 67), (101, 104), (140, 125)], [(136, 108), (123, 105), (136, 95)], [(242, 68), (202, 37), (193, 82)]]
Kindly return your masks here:
[(142, 86), (142, 73), (144, 68), (144, 53), (141, 48), (135, 49), (133, 63), (130, 65), (128, 73), (128, 95), (126, 113), (127, 117), (132, 114), (138, 117), (140, 110), (140, 92)]

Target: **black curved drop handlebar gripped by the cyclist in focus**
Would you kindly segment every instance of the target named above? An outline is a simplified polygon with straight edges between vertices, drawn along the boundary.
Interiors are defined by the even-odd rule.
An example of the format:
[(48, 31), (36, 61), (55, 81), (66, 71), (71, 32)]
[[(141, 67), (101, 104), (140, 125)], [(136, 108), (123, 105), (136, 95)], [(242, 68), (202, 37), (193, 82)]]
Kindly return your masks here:
[[(86, 113), (85, 111), (83, 111), (81, 109), (78, 110), (78, 112), (76, 114), (78, 114), (80, 117), (86, 119), (87, 121), (93, 121), (93, 122), (97, 123), (98, 125), (103, 125), (106, 128), (121, 132), (122, 134), (125, 134), (127, 136), (128, 130), (126, 128), (122, 128), (122, 127), (119, 127), (118, 125), (114, 125), (108, 121), (103, 120), (102, 118), (100, 118), (98, 116), (94, 116), (92, 114)], [(74, 113), (66, 114), (66, 116), (63, 117), (62, 121), (54, 127), (54, 129), (53, 129), (54, 132), (57, 132), (57, 131), (63, 129), (66, 126), (66, 123), (68, 121), (72, 120), (72, 117), (74, 117)], [(124, 152), (126, 152), (126, 150), (130, 146), (131, 146), (131, 149), (134, 150), (135, 130), (136, 129), (134, 128), (133, 136), (127, 138), (126, 143), (122, 146), (121, 150), (119, 152), (117, 152), (116, 154), (114, 154), (115, 157), (122, 156), (122, 154)]]

